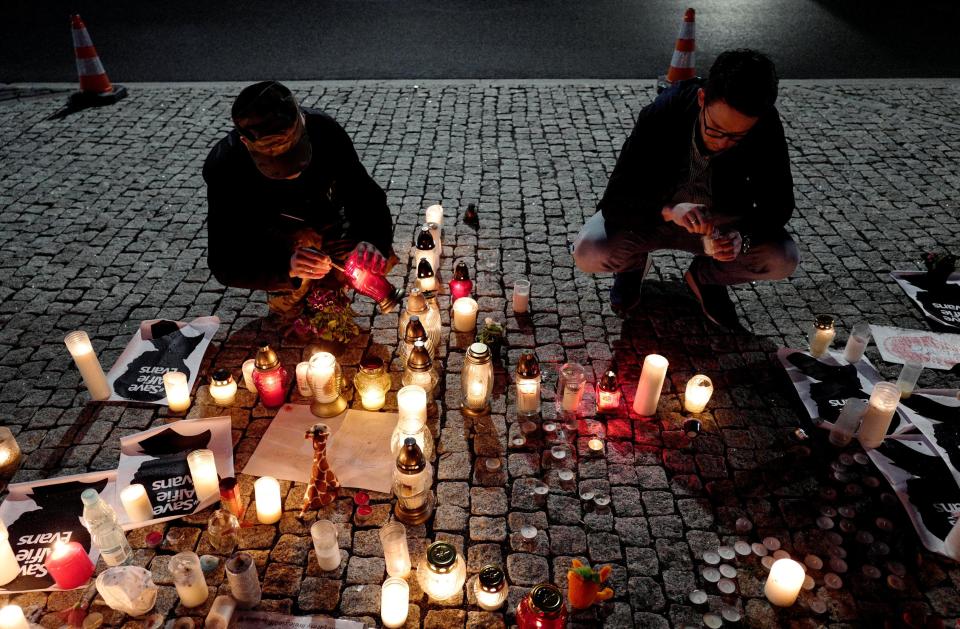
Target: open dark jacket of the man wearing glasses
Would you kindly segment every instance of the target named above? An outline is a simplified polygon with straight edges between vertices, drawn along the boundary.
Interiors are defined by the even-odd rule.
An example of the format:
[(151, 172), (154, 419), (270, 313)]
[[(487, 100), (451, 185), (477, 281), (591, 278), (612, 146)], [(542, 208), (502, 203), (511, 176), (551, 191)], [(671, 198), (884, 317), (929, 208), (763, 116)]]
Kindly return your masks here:
[[(697, 89), (684, 81), (664, 91), (637, 116), (600, 201), (608, 233), (643, 231), (687, 179), (690, 139), (700, 114)], [(750, 133), (711, 159), (711, 212), (738, 217), (732, 226), (753, 238), (779, 231), (795, 206), (790, 159), (776, 109)]]

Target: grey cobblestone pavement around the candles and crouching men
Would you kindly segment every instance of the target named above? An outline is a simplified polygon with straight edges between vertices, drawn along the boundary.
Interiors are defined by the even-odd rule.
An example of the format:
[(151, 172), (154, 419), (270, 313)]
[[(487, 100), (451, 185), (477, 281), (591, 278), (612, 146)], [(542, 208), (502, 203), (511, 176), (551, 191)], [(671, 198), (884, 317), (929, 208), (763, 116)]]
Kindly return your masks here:
[[(214, 366), (239, 376), (255, 339), (276, 337), (261, 318), (264, 295), (224, 288), (206, 266), (200, 167), (208, 147), (228, 129), (238, 89), (132, 86), (117, 106), (54, 122), (44, 117), (59, 107), (63, 92), (25, 91), (0, 102), (0, 417), (25, 452), (14, 481), (114, 468), (120, 437), (168, 421), (165, 408), (87, 403), (63, 345), (64, 334), (76, 328), (89, 331), (110, 365), (143, 319), (218, 315), (223, 325), (188, 415), (232, 416), (238, 469), (269, 425), (272, 413), (250, 394), (218, 409), (205, 384)], [(821, 311), (836, 313), (841, 330), (860, 320), (925, 327), (887, 272), (917, 268), (915, 260), (928, 249), (960, 248), (960, 83), (784, 85), (780, 108), (799, 206), (790, 227), (803, 263), (789, 281), (735, 289), (753, 331), (737, 335), (705, 323), (680, 281), (685, 254), (655, 256), (643, 307), (628, 322), (609, 308), (609, 277), (574, 270), (569, 244), (594, 212), (634, 112), (653, 96), (649, 82), (304, 83), (295, 91), (353, 136), (387, 191), (398, 248), (408, 246), (424, 207), (444, 204), (446, 278), (455, 260), (467, 260), (481, 318), (508, 327), (505, 371), (498, 372), (489, 417), (471, 421), (457, 410), (469, 339), (454, 334), (443, 350), (446, 377), (439, 413), (431, 418), (438, 438), (438, 508), (409, 535), (415, 562), (426, 540), (448, 539), (464, 551), (470, 574), (487, 562), (501, 564), (515, 586), (510, 603), (504, 614), (478, 611), (463, 597), (428, 603), (412, 579), (409, 627), (509, 624), (510, 610), (531, 585), (565, 585), (573, 557), (611, 564), (616, 596), (574, 615), (571, 626), (696, 625), (705, 612), (725, 605), (758, 627), (877, 626), (904, 613), (914, 619), (930, 613), (951, 623), (960, 617), (960, 570), (922, 550), (885, 482), (870, 487), (868, 478), (878, 472), (836, 463), (837, 451), (819, 434), (794, 441), (805, 414), (772, 357), (779, 347), (805, 346), (812, 317)], [(469, 202), (479, 206), (479, 231), (454, 220)], [(408, 273), (399, 265), (395, 283)], [(509, 287), (521, 275), (533, 281), (532, 316), (522, 320), (512, 316), (508, 302)], [(440, 300), (446, 308), (448, 297)], [(363, 298), (356, 307), (369, 332), (344, 356), (348, 376), (365, 351), (391, 356), (396, 339), (396, 315), (374, 316)], [(615, 361), (632, 400), (638, 358), (665, 354), (670, 373), (657, 418), (591, 413), (571, 425), (576, 455), (565, 463), (576, 478), (562, 484), (542, 444), (510, 445), (518, 422), (507, 374), (523, 348), (535, 348), (545, 367), (547, 419), (554, 417), (552, 388), (564, 361), (587, 365), (591, 377)], [(292, 365), (299, 353), (283, 346), (281, 355)], [(875, 350), (868, 356), (886, 376), (895, 375)], [(394, 391), (400, 369), (394, 358)], [(702, 434), (690, 439), (679, 429), (679, 394), (695, 372), (709, 374), (717, 393), (700, 416)], [(955, 378), (929, 372), (921, 382), (957, 386)], [(592, 400), (588, 395), (585, 406)], [(395, 407), (395, 394), (388, 404)], [(591, 435), (606, 440), (605, 457), (588, 454)], [(500, 471), (487, 472), (489, 457), (501, 459)], [(856, 487), (835, 480), (835, 467), (846, 470), (843, 478)], [(546, 496), (530, 491), (540, 478), (550, 486)], [(252, 479), (241, 480), (249, 500)], [(839, 494), (833, 502), (831, 488)], [(362, 526), (352, 522), (350, 492), (320, 513), (338, 523), (344, 551), (340, 569), (324, 573), (309, 552), (307, 527), (294, 519), (303, 487), (285, 483), (284, 489), (281, 523), (245, 529), (242, 541), (264, 577), (264, 607), (379, 622), (384, 565), (376, 526), (386, 518), (388, 497), (374, 496), (375, 517)], [(589, 508), (578, 489), (608, 494), (612, 504)], [(730, 561), (738, 570), (733, 594), (721, 594), (708, 578), (713, 575), (705, 572), (702, 554), (738, 539), (775, 536), (800, 558), (844, 554), (826, 544), (830, 536), (815, 524), (824, 506), (856, 510), (842, 531), (846, 559), (812, 570), (815, 587), (802, 593), (800, 604), (781, 610), (766, 602), (765, 570), (756, 556)], [(893, 522), (892, 532), (875, 526), (877, 516)], [(740, 518), (747, 521), (738, 528)], [(179, 544), (204, 552), (204, 521), (192, 517), (167, 527), (188, 529)], [(527, 523), (540, 529), (532, 544), (519, 535)], [(874, 543), (861, 543), (865, 536), (855, 539), (851, 529), (870, 533)], [(177, 607), (161, 569), (176, 548), (148, 550), (147, 530), (130, 538), (138, 561), (155, 568), (159, 609), (171, 617), (202, 617), (207, 606)], [(839, 589), (825, 586), (828, 571), (841, 577)], [(212, 600), (213, 590), (226, 587), (222, 571), (210, 577), (210, 586)], [(706, 604), (690, 602), (696, 588), (709, 595)], [(78, 596), (34, 593), (16, 600), (45, 606), (42, 624), (53, 627), (54, 612)], [(825, 611), (818, 613), (821, 603)], [(123, 624), (117, 613), (96, 609), (108, 623)]]

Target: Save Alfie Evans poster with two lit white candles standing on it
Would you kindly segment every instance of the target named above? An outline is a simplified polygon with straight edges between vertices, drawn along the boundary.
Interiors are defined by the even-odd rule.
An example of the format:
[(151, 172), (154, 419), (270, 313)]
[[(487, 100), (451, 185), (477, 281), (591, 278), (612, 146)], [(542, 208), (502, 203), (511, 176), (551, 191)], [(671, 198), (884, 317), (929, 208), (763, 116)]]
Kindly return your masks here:
[(133, 483), (143, 485), (154, 519), (130, 522), (123, 512), (125, 529), (137, 528), (189, 515), (219, 500), (197, 498), (187, 465), (194, 450), (212, 450), (220, 478), (233, 476), (233, 437), (229, 417), (190, 419), (158, 426), (120, 439), (117, 491)]

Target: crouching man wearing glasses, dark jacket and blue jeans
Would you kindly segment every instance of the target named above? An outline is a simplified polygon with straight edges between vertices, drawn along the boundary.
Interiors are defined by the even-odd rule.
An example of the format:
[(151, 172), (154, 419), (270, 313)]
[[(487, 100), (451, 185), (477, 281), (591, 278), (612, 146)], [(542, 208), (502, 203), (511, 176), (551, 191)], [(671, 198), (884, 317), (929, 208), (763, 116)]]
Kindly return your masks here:
[(694, 254), (684, 279), (704, 315), (742, 329), (727, 286), (789, 277), (799, 262), (784, 229), (793, 177), (777, 75), (754, 50), (722, 53), (706, 81), (664, 91), (637, 117), (599, 212), (573, 256), (587, 273), (614, 273), (610, 302), (627, 315), (640, 301), (648, 254)]

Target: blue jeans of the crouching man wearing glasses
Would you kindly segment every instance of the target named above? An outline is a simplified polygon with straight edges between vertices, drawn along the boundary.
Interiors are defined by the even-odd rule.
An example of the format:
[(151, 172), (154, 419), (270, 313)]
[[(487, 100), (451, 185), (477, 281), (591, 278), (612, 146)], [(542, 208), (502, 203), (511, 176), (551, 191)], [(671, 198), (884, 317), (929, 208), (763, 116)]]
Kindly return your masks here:
[(732, 262), (719, 262), (704, 255), (701, 238), (666, 221), (642, 233), (624, 230), (608, 236), (603, 214), (597, 212), (577, 235), (573, 260), (584, 273), (626, 273), (642, 270), (652, 251), (679, 249), (696, 256), (690, 272), (698, 283), (721, 286), (781, 280), (790, 277), (800, 262), (797, 243), (784, 230), (752, 242), (749, 251)]

